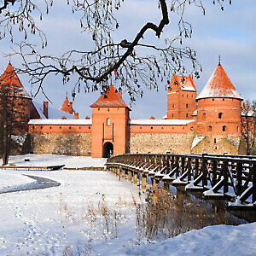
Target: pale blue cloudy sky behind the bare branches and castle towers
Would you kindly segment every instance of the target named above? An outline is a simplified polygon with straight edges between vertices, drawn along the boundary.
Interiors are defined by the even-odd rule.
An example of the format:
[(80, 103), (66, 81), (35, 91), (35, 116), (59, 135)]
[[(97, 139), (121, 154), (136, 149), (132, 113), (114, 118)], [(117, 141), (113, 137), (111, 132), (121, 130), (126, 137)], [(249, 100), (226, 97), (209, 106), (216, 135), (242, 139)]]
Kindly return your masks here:
[[(137, 31), (147, 21), (157, 21), (160, 17), (156, 0), (125, 0), (123, 7), (118, 13), (119, 31), (115, 33), (115, 38), (132, 39)], [(200, 9), (187, 9), (186, 18), (193, 26), (193, 36), (186, 40), (184, 45), (189, 45), (197, 51), (198, 60), (203, 67), (201, 79), (195, 79), (198, 93), (201, 92), (207, 79), (218, 64), (218, 55), (221, 55), (222, 65), (228, 74), (236, 90), (244, 99), (256, 99), (256, 1), (255, 0), (233, 0), (232, 5), (226, 4), (225, 10), (220, 11), (218, 5), (212, 5), (212, 1), (207, 3), (206, 15), (201, 14)], [(170, 26), (165, 29), (162, 35), (164, 38), (172, 38), (177, 33), (177, 23), (174, 16), (170, 17)], [(50, 10), (50, 14), (45, 16), (40, 27), (46, 32), (49, 46), (44, 54), (58, 55), (68, 49), (90, 49), (92, 47), (90, 36), (79, 31), (79, 20), (70, 15), (70, 10), (63, 4), (63, 1), (55, 1), (55, 6)], [(155, 42), (154, 35), (148, 33), (145, 42)], [(19, 41), (19, 36), (16, 42)], [(0, 71), (3, 73), (9, 59), (3, 58), (3, 52), (9, 52), (9, 48), (14, 47), (9, 40), (0, 41), (2, 54), (0, 61)], [(20, 65), (20, 60), (11, 60), (14, 66)], [(26, 90), (30, 92), (31, 85), (28, 78), (20, 75), (20, 80)], [(119, 86), (119, 84), (113, 84)], [(138, 98), (136, 105), (131, 106), (131, 118), (148, 119), (151, 115), (160, 119), (166, 114), (166, 84), (160, 83), (160, 90), (144, 90), (143, 99)], [(53, 102), (53, 108), (60, 108), (66, 93), (71, 99), (73, 84), (63, 85), (61, 78), (49, 77), (44, 84), (44, 90)], [(83, 91), (83, 90), (82, 90)], [(76, 111), (80, 113), (80, 118), (86, 115), (91, 116), (90, 104), (95, 102), (98, 93), (80, 93), (73, 103)], [(125, 95), (125, 102), (129, 104), (129, 97)], [(38, 102), (44, 101), (44, 96), (39, 95)]]

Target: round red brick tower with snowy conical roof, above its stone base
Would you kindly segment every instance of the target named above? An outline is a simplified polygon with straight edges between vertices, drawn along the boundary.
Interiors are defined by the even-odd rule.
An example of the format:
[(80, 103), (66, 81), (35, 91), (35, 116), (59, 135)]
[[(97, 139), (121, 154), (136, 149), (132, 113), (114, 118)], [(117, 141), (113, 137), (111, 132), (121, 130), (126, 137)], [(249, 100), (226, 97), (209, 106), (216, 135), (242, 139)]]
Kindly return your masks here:
[(198, 134), (240, 134), (242, 98), (220, 63), (196, 101)]

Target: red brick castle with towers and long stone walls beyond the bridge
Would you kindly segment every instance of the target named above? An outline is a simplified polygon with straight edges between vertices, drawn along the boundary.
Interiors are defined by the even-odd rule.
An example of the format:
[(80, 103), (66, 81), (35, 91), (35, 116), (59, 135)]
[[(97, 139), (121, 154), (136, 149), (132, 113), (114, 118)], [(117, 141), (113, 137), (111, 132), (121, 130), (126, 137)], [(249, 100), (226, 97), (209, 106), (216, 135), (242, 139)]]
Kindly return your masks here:
[[(15, 73), (11, 64), (6, 72)], [(12, 77), (18, 79), (16, 74)], [(9, 84), (20, 86), (21, 83), (11, 80)], [(131, 109), (122, 99), (122, 90), (115, 90), (113, 85), (90, 105), (91, 119), (79, 119), (67, 97), (60, 110), (55, 110), (49, 108), (48, 102), (33, 102), (23, 87), (22, 91), (27, 106), (29, 150), (35, 154), (108, 157), (166, 151), (245, 153), (241, 139), (242, 98), (220, 64), (199, 96), (190, 75), (174, 73), (164, 119), (130, 119)]]

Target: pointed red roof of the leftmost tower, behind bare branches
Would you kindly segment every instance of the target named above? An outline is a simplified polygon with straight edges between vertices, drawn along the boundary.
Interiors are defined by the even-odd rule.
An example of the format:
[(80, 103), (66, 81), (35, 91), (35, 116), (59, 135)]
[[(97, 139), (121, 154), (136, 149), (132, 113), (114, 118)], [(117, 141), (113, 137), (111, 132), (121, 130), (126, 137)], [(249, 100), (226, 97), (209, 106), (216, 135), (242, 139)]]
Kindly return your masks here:
[(15, 94), (15, 96), (30, 98), (10, 63), (0, 78), (0, 86), (9, 86), (10, 93)]

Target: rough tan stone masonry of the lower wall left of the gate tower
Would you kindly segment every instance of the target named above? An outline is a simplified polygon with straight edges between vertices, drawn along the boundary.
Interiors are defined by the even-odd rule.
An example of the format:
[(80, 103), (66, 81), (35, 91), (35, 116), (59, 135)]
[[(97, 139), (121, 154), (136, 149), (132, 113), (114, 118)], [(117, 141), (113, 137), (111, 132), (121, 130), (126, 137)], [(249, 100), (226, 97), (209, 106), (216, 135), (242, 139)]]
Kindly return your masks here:
[(91, 134), (31, 134), (31, 152), (33, 154), (91, 154)]

